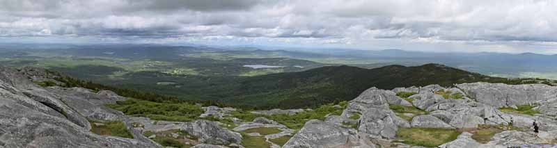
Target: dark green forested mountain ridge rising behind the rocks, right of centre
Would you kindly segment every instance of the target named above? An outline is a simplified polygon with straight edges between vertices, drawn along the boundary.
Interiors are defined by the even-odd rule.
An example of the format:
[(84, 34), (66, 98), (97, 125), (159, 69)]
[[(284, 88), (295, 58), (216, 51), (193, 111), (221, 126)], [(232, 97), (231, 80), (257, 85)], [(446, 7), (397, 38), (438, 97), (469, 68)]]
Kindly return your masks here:
[(264, 108), (303, 108), (354, 99), (363, 90), (372, 87), (390, 90), (413, 85), (451, 86), (478, 81), (510, 83), (508, 79), (437, 64), (416, 67), (391, 65), (376, 69), (320, 67), (244, 79), (233, 94), (229, 94), (233, 97), (224, 97), (221, 101)]

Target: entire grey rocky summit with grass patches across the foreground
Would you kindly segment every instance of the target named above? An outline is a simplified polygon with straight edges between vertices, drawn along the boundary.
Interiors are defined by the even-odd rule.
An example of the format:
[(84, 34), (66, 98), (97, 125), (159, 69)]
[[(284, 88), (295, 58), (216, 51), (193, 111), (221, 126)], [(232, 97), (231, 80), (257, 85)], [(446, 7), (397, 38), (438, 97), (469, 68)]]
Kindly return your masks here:
[[(43, 87), (61, 83), (44, 69), (0, 67), (0, 147), (508, 147), (557, 144), (557, 87), (462, 83), (370, 88), (338, 114), (309, 118), (300, 129), (277, 117), (312, 109), (202, 107), (200, 120), (125, 115), (107, 107), (126, 100), (109, 90)], [(207, 120), (203, 120), (203, 119)], [(227, 122), (228, 121), (228, 122)], [(533, 123), (539, 127), (534, 133)], [(102, 129), (122, 123), (129, 135)], [(235, 126), (230, 126), (235, 125)], [(126, 133), (126, 132), (123, 132)], [(254, 139), (258, 138), (258, 139)], [(283, 140), (277, 140), (285, 138)], [(259, 140), (259, 141), (258, 141)], [(551, 146), (553, 145), (553, 146)]]

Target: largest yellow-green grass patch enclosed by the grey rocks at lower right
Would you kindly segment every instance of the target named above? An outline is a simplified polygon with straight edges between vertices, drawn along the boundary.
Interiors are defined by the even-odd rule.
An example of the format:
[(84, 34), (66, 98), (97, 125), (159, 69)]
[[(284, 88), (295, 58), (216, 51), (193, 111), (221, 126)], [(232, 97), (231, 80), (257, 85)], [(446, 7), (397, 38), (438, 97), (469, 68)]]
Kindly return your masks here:
[(397, 141), (407, 145), (437, 147), (456, 140), (460, 131), (452, 129), (401, 128), (396, 132)]

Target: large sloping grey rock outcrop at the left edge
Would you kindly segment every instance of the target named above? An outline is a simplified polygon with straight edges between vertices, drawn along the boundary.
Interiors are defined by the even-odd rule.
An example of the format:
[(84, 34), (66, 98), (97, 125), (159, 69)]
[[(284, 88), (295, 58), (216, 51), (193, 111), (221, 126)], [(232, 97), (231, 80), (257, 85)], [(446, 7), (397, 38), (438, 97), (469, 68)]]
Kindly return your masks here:
[(140, 138), (91, 133), (86, 117), (67, 105), (65, 97), (38, 87), (15, 69), (0, 67), (0, 146), (159, 147)]

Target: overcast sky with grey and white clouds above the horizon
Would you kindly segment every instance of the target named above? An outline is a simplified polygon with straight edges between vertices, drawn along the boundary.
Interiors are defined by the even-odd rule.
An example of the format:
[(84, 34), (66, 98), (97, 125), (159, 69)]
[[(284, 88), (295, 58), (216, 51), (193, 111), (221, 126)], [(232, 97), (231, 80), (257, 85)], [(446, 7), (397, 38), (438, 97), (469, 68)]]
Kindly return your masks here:
[(0, 0), (0, 42), (557, 54), (551, 0)]

